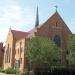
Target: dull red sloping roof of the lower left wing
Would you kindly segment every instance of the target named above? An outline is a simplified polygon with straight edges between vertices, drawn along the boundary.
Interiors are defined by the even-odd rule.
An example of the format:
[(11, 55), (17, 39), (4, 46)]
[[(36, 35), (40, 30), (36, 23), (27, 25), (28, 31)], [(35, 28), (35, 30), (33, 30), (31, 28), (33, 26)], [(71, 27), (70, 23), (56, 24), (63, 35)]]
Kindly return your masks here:
[(14, 39), (20, 40), (22, 38), (25, 38), (29, 33), (28, 32), (22, 32), (22, 31), (17, 31), (17, 30), (11, 30)]

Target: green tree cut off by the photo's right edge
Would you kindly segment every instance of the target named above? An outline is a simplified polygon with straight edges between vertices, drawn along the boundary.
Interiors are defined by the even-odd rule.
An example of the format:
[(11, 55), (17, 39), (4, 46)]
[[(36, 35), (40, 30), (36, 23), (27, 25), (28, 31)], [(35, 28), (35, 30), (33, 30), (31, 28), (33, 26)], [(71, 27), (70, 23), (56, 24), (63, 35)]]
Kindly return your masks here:
[(71, 36), (68, 41), (69, 64), (75, 65), (75, 35)]

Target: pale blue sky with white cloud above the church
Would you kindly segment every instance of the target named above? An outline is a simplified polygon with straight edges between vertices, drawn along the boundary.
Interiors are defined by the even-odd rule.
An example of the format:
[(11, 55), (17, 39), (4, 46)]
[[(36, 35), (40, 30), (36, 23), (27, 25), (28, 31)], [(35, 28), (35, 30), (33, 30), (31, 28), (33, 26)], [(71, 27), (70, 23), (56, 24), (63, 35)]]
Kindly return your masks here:
[(72, 33), (75, 33), (75, 0), (0, 0), (0, 42), (5, 42), (9, 29), (29, 31), (35, 26), (36, 9), (40, 24), (58, 6), (58, 12)]

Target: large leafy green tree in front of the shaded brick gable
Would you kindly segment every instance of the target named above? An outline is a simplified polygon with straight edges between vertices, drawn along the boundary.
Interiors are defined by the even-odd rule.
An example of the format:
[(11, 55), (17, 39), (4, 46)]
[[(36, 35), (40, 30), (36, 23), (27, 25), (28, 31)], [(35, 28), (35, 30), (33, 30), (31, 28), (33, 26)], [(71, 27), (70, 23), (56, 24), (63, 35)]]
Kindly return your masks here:
[(33, 68), (51, 68), (61, 65), (61, 49), (44, 37), (34, 37), (27, 42), (29, 59)]

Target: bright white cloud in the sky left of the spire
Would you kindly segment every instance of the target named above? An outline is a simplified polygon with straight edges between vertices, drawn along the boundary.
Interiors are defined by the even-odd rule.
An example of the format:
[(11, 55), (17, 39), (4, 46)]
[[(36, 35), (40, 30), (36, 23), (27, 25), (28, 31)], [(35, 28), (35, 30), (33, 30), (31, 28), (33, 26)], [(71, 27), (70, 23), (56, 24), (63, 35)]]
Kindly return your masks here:
[(4, 42), (10, 27), (20, 29), (29, 25), (34, 14), (30, 8), (22, 8), (18, 0), (2, 0), (0, 4), (0, 41)]

